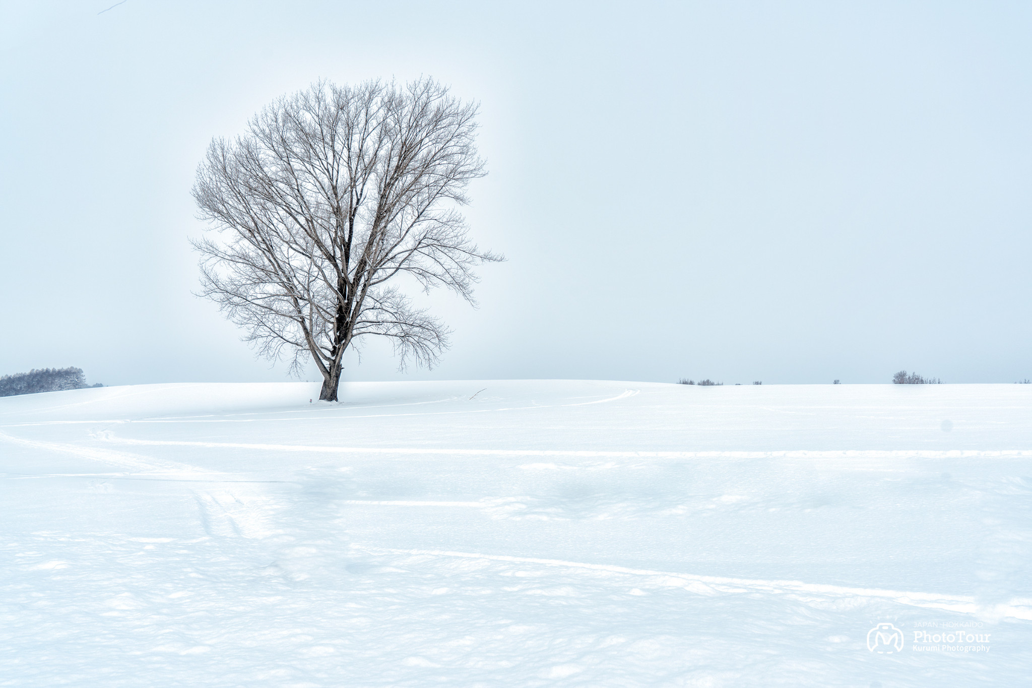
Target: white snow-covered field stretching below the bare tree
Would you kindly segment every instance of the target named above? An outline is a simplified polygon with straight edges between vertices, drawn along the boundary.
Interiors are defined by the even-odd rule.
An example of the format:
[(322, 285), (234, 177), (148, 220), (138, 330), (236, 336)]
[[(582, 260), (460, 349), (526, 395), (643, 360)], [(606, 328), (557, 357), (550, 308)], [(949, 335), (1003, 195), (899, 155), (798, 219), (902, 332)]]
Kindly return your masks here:
[(1032, 677), (1032, 386), (317, 394), (0, 399), (0, 686)]

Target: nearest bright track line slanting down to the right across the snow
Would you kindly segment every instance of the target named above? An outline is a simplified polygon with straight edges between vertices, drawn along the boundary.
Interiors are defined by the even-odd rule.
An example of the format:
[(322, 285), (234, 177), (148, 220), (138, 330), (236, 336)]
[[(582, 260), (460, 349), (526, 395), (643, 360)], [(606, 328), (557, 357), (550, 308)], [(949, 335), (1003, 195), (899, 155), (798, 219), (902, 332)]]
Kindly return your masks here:
[(941, 595), (931, 592), (913, 592), (901, 590), (883, 590), (880, 588), (851, 588), (821, 583), (803, 583), (802, 581), (764, 581), (756, 579), (725, 578), (717, 576), (699, 576), (696, 574), (677, 574), (672, 571), (652, 570), (648, 568), (628, 568), (612, 564), (593, 564), (580, 561), (565, 561), (562, 559), (541, 559), (537, 557), (515, 557), (503, 554), (480, 554), (476, 552), (451, 552), (447, 550), (397, 550), (389, 548), (362, 548), (369, 552), (407, 554), (412, 556), (452, 557), (460, 559), (486, 559), (507, 563), (528, 563), (545, 566), (561, 566), (565, 568), (581, 568), (589, 570), (609, 571), (630, 576), (648, 576), (657, 579), (655, 583), (664, 587), (680, 587), (697, 594), (761, 592), (768, 594), (787, 595), (801, 601), (812, 600), (813, 595), (824, 597), (873, 597), (895, 601), (910, 607), (938, 609), (961, 614), (986, 614), (994, 617), (1009, 617), (1012, 619), (1032, 620), (1032, 599), (1014, 598), (1007, 603), (983, 605), (978, 604), (974, 597), (966, 595)]

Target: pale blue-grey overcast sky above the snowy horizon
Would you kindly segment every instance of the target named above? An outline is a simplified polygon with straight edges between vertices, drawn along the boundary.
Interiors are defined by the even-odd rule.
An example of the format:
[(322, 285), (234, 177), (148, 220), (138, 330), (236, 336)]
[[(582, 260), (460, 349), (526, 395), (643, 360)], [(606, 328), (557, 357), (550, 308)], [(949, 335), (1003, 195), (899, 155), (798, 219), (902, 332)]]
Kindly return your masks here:
[[(1032, 378), (1028, 2), (3, 2), (0, 374), (284, 381), (198, 288), (213, 136), (324, 77), (479, 100), (432, 371)], [(316, 373), (309, 379), (315, 380)]]

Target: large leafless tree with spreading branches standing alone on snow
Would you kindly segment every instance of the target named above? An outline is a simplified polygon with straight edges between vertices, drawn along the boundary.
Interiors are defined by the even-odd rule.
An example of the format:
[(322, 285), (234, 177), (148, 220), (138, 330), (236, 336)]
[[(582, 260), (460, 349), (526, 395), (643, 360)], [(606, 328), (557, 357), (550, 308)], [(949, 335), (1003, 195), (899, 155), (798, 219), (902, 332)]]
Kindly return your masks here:
[(504, 260), (469, 238), (457, 206), (483, 176), (477, 105), (429, 79), (398, 87), (318, 83), (265, 107), (245, 135), (215, 138), (193, 196), (214, 234), (202, 294), (247, 329), (259, 353), (309, 356), (335, 401), (342, 357), (360, 337), (388, 337), (432, 367), (448, 330), (402, 293), (447, 287), (476, 305), (472, 268)]

